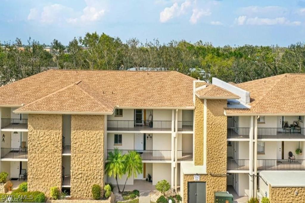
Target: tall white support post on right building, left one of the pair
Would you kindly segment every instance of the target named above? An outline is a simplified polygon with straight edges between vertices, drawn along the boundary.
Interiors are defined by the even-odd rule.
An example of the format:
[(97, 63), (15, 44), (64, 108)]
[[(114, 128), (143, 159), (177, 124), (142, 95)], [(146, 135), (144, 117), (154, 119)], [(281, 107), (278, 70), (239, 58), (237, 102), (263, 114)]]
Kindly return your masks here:
[(249, 198), (253, 197), (253, 128), (254, 117), (250, 118), (250, 134), (249, 134)]

